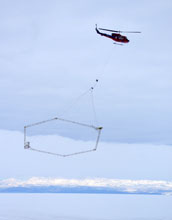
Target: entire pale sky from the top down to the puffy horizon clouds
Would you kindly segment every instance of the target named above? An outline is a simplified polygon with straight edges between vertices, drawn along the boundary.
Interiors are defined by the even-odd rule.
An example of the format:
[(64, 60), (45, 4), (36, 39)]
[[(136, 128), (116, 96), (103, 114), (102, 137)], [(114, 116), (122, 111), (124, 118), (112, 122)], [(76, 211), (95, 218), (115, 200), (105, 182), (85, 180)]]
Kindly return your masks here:
[[(170, 181), (171, 10), (167, 0), (1, 1), (0, 178)], [(96, 23), (142, 33), (116, 46), (96, 34)], [(23, 149), (24, 125), (60, 116), (96, 78), (104, 127), (97, 152), (59, 159)], [(90, 123), (88, 101), (64, 117)], [(75, 141), (89, 140), (68, 128), (61, 126), (67, 138), (75, 132)]]

